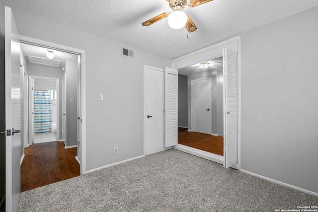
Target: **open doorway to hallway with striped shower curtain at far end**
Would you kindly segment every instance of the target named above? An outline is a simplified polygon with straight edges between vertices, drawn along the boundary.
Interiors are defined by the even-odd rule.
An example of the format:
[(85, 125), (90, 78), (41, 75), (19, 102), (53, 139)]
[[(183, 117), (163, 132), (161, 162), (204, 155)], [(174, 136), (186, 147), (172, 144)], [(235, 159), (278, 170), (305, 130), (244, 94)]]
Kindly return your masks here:
[[(24, 71), (28, 78), (25, 80), (28, 85), (24, 86), (27, 88), (25, 92), (27, 98), (24, 99), (24, 105), (27, 107), (28, 115), (25, 117), (28, 122), (24, 126), (27, 141), (24, 141), (24, 159), (23, 162), (21, 161), (21, 190), (24, 189), (23, 191), (84, 173), (82, 166), (80, 166), (81, 158), (79, 156), (82, 152), (79, 141), (79, 138), (82, 138), (82, 135), (79, 135), (82, 133), (81, 130), (79, 131), (82, 128), (82, 54), (55, 48), (51, 46), (51, 43), (50, 46), (39, 44), (37, 41), (33, 43), (20, 40), (21, 60), (25, 64)], [(40, 43), (43, 42), (40, 41)], [(46, 54), (48, 50), (54, 52), (54, 59), (48, 59)], [(66, 101), (67, 99), (70, 101)], [(69, 132), (68, 137), (64, 138), (67, 131)], [(45, 147), (40, 146), (40, 144), (44, 144)], [(40, 153), (40, 151), (42, 152)], [(42, 162), (46, 160), (46, 162), (51, 161), (52, 164), (55, 164), (54, 168), (46, 164), (42, 166), (46, 167), (45, 169), (33, 170), (43, 175), (39, 179), (41, 181), (44, 179), (44, 182), (22, 183), (23, 176), (29, 178), (27, 176), (38, 175), (29, 173), (32, 169), (23, 168), (30, 166), (30, 164), (25, 163), (41, 163), (41, 161), (36, 161), (36, 157), (28, 158), (30, 152), (30, 155), (37, 154), (38, 158), (42, 158), (40, 159)], [(61, 160), (63, 155), (67, 157), (63, 159), (62, 163), (57, 163), (56, 160)], [(70, 157), (70, 155), (73, 156)], [(59, 164), (58, 167), (56, 164)], [(36, 169), (36, 166), (33, 167)], [(67, 174), (70, 170), (71, 175)], [(61, 175), (61, 173), (63, 174)], [(55, 177), (52, 177), (53, 175)], [(45, 176), (49, 176), (47, 180), (45, 180)], [(26, 188), (27, 184), (31, 187)]]

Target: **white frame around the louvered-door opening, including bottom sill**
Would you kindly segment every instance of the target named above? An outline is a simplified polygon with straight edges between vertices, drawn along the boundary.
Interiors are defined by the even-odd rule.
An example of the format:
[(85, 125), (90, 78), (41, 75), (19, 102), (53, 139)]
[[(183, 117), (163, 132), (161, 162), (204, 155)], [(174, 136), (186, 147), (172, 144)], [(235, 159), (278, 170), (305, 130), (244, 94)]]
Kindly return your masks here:
[[(207, 48), (201, 49), (199, 51), (187, 54), (185, 56), (176, 58), (172, 60), (172, 68), (173, 69), (181, 69), (193, 64), (202, 63), (203, 61), (209, 61), (214, 58), (223, 57), (223, 49), (229, 48), (239, 53), (239, 135), (238, 135), (238, 169), (240, 169), (240, 101), (241, 101), (241, 94), (240, 94), (240, 36), (228, 39), (226, 41), (220, 42), (218, 44), (214, 44)], [(223, 156), (201, 151), (199, 149), (191, 148), (188, 146), (184, 146), (178, 144), (174, 146), (174, 148), (179, 149), (181, 151), (188, 152), (190, 154), (194, 154), (217, 163), (223, 164), (224, 158)]]

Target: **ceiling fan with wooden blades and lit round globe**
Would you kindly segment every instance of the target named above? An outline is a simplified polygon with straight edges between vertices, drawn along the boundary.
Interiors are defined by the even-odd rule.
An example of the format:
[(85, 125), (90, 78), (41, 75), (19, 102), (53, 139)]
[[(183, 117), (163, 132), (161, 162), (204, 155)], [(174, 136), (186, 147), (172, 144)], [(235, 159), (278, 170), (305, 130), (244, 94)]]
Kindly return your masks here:
[(174, 29), (180, 29), (185, 27), (188, 32), (194, 32), (197, 27), (194, 25), (193, 21), (191, 20), (190, 16), (185, 14), (182, 9), (185, 6), (195, 7), (206, 2), (212, 0), (167, 0), (169, 2), (169, 6), (173, 9), (172, 12), (163, 12), (156, 17), (149, 19), (143, 23), (143, 26), (149, 26), (157, 21), (168, 17), (168, 24), (170, 27)]

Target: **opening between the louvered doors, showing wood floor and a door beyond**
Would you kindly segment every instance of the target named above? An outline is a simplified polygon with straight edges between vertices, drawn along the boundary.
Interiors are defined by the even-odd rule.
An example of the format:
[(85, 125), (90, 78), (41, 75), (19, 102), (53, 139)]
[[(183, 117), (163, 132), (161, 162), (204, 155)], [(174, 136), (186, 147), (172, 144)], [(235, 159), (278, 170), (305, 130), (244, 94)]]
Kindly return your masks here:
[(178, 143), (223, 156), (223, 123), (223, 57), (179, 69)]

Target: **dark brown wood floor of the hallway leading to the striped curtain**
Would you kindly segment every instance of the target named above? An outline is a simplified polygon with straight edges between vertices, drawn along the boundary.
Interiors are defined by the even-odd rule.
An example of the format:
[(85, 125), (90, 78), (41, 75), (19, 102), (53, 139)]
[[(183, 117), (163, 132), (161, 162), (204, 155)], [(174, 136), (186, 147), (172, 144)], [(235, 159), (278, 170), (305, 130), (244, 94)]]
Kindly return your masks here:
[(79, 176), (77, 148), (63, 141), (36, 143), (24, 148), (21, 192)]

